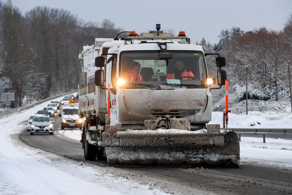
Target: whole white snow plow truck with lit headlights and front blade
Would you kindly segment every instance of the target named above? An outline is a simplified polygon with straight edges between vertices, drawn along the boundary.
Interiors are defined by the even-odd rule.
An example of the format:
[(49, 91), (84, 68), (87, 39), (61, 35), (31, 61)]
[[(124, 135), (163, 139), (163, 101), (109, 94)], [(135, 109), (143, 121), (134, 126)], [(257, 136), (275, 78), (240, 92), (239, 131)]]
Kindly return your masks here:
[[(126, 38), (99, 39), (79, 54), (83, 84), (78, 85), (81, 143), (87, 160), (110, 164), (239, 165), (233, 131), (207, 125), (211, 90), (225, 84), (225, 58), (204, 53), (160, 30), (134, 31)], [(208, 78), (205, 56), (218, 55), (215, 78)]]

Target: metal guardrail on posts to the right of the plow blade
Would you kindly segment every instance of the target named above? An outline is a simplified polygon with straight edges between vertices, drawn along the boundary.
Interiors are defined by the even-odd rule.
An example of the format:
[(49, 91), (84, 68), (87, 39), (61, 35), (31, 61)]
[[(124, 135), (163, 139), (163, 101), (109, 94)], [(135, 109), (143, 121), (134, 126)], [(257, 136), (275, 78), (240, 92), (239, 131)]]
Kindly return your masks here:
[(263, 142), (266, 143), (266, 134), (292, 134), (292, 128), (228, 128), (238, 134), (241, 141), (242, 133), (262, 134)]

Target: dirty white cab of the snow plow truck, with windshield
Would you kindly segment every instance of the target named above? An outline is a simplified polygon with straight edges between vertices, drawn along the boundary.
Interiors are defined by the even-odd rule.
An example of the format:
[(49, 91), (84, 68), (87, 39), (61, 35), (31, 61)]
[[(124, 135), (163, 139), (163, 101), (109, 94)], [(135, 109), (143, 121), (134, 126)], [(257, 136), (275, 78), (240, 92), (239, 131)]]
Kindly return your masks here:
[(166, 33), (165, 39), (149, 40), (153, 34), (102, 45), (108, 50), (95, 61), (95, 84), (97, 99), (107, 101), (98, 107), (107, 109), (110, 125), (120, 130), (145, 129), (145, 120), (166, 115), (187, 119), (190, 130), (204, 128), (212, 117), (212, 96), (202, 47), (182, 44), (186, 37), (167, 39)]

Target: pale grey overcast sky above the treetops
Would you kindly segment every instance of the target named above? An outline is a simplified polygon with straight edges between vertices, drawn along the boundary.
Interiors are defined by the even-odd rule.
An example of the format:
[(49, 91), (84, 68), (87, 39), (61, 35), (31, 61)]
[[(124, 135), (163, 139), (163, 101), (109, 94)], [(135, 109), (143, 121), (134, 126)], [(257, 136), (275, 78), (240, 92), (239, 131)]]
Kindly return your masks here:
[[(4, 0), (6, 1), (6, 0)], [(222, 29), (280, 31), (292, 14), (292, 0), (12, 0), (22, 13), (36, 7), (63, 8), (80, 19), (109, 19), (124, 30), (185, 31), (192, 43), (204, 37), (218, 43)], [(93, 40), (92, 40), (93, 41)]]

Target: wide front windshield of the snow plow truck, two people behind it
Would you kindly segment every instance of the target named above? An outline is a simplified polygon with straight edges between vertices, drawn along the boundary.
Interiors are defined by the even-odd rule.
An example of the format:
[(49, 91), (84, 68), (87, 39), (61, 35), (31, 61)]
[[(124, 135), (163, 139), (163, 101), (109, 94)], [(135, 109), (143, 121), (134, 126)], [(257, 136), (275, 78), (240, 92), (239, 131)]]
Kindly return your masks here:
[(207, 73), (200, 51), (168, 51), (172, 59), (159, 59), (158, 51), (125, 51), (120, 78), (128, 83), (203, 85)]

